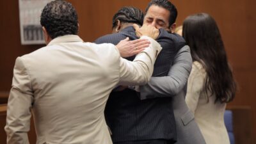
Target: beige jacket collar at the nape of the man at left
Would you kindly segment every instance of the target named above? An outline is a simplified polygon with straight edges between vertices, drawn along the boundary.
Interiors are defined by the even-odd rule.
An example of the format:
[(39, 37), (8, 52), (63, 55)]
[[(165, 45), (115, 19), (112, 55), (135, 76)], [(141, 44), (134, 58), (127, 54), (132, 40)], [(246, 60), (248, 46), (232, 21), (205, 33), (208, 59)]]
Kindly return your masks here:
[(54, 38), (49, 42), (48, 45), (60, 44), (65, 42), (83, 42), (83, 40), (78, 35), (65, 35)]

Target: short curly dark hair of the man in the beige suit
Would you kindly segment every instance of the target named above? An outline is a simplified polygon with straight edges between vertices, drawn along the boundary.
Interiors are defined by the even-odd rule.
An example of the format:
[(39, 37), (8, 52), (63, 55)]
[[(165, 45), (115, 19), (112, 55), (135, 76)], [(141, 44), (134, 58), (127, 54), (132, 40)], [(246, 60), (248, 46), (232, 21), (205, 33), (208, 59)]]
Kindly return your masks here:
[(40, 23), (52, 39), (63, 35), (77, 35), (77, 12), (67, 1), (56, 0), (47, 3), (42, 11)]

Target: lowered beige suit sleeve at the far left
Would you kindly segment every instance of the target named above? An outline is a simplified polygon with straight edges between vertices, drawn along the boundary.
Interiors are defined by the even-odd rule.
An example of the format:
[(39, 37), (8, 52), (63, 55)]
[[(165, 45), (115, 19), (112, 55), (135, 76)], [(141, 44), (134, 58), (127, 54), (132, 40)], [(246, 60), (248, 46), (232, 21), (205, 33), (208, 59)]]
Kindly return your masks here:
[(17, 58), (13, 69), (12, 89), (10, 91), (6, 126), (8, 144), (29, 143), (28, 131), (30, 129), (31, 108), (33, 92), (28, 70)]

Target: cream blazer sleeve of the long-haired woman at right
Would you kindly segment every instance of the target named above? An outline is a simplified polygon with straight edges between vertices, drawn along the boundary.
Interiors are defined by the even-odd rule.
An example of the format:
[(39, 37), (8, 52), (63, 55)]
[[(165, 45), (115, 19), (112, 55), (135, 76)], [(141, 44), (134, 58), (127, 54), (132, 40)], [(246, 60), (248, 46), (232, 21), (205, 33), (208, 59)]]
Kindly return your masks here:
[(188, 108), (195, 113), (200, 93), (203, 92), (205, 73), (202, 68), (193, 65), (188, 79), (188, 89), (186, 94), (186, 104)]

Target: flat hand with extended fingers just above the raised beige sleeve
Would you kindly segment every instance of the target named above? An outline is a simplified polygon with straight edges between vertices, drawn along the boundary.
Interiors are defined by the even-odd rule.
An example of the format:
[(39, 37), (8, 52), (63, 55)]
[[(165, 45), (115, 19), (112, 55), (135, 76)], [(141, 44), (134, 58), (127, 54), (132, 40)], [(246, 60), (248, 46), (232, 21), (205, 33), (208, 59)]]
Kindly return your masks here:
[(138, 40), (131, 40), (129, 38), (125, 38), (121, 40), (117, 45), (117, 49), (120, 52), (122, 58), (127, 58), (129, 56), (133, 56), (135, 54), (140, 53), (146, 47), (149, 47), (150, 41), (146, 39), (138, 39)]

